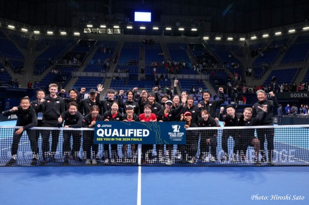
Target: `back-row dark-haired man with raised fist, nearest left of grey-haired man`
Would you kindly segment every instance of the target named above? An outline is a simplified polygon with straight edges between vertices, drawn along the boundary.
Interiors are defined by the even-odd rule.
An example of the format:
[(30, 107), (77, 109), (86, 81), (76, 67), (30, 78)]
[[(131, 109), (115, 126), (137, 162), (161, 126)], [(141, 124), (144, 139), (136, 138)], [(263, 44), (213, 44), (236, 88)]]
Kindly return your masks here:
[(221, 94), (220, 99), (210, 100), (210, 92), (204, 91), (203, 92), (204, 100), (198, 103), (199, 107), (201, 107), (202, 110), (207, 110), (210, 117), (214, 118), (216, 120), (216, 122), (218, 122), (218, 118), (217, 118), (217, 115), (216, 115), (217, 107), (225, 102), (225, 96), (224, 96), (223, 88), (220, 87), (219, 91), (220, 91), (220, 94)]

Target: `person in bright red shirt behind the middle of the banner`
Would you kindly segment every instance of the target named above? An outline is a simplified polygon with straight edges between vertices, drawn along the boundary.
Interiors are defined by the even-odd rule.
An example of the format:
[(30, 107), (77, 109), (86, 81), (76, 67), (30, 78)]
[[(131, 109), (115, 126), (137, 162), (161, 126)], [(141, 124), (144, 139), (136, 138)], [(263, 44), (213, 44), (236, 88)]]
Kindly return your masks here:
[[(141, 122), (157, 122), (157, 116), (151, 113), (151, 105), (148, 104), (144, 106), (144, 113), (139, 115), (139, 120)], [(146, 164), (146, 152), (152, 153), (153, 147), (154, 147), (153, 144), (142, 145), (143, 164)]]

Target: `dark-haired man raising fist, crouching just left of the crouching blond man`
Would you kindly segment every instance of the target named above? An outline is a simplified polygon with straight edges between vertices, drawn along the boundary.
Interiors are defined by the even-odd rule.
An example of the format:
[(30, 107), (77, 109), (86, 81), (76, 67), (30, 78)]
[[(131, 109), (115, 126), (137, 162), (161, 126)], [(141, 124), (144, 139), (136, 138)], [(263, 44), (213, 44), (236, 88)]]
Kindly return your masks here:
[[(235, 109), (232, 105), (226, 106), (226, 114), (223, 115), (224, 107), (220, 108), (219, 120), (224, 122), (224, 127), (235, 127), (239, 125), (239, 120), (243, 114), (235, 113)], [(233, 149), (233, 161), (238, 162), (237, 160), (237, 150), (239, 150), (239, 137), (238, 130), (236, 129), (223, 129), (222, 131), (222, 150), (224, 151), (224, 156), (221, 158), (221, 161), (229, 159), (228, 156), (228, 147), (227, 141), (231, 136), (234, 139), (234, 149)]]

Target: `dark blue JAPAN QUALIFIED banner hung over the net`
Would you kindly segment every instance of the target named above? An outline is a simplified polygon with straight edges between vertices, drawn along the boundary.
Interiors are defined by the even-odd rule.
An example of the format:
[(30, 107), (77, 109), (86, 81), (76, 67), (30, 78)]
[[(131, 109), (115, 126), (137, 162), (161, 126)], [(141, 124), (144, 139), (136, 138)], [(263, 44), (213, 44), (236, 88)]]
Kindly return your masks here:
[(95, 123), (95, 144), (186, 144), (183, 122)]

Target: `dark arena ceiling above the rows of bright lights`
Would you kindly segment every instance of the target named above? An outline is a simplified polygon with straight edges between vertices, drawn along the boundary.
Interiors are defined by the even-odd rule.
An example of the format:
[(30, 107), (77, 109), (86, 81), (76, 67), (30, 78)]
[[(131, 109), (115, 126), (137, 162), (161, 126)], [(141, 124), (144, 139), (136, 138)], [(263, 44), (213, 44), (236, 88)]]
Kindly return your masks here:
[(307, 0), (2, 0), (0, 16), (32, 25), (72, 26), (73, 12), (112, 17), (133, 10), (161, 15), (211, 17), (212, 31), (251, 32), (306, 22)]

